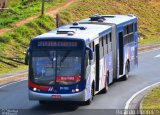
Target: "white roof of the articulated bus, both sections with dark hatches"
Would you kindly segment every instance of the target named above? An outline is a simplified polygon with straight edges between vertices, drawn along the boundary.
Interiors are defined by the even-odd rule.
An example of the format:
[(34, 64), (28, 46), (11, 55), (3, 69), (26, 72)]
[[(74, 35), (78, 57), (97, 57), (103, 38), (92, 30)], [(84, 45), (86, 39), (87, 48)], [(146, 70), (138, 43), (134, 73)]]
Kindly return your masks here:
[[(103, 22), (98, 22), (102, 24), (94, 24), (96, 22), (97, 16), (103, 17)], [(137, 18), (133, 15), (94, 15), (92, 17), (78, 21), (76, 23), (68, 24), (52, 30), (48, 33), (42, 34), (33, 38), (33, 40), (38, 39), (54, 39), (54, 38), (66, 38), (66, 39), (82, 39), (88, 44), (93, 39), (102, 36), (104, 33), (111, 32), (112, 27), (110, 24), (117, 26), (123, 26), (130, 22), (135, 22)], [(100, 20), (101, 21), (101, 20)], [(92, 23), (90, 23), (92, 22)], [(108, 25), (106, 25), (108, 24)]]

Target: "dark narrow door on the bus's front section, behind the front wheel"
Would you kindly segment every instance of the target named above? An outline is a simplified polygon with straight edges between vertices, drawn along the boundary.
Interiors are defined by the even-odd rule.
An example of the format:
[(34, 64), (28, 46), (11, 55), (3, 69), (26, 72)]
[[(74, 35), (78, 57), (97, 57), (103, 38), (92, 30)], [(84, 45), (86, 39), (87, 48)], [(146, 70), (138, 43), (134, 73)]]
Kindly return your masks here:
[(99, 44), (95, 46), (96, 49), (96, 91), (99, 90), (99, 58), (100, 58), (100, 53), (99, 53)]

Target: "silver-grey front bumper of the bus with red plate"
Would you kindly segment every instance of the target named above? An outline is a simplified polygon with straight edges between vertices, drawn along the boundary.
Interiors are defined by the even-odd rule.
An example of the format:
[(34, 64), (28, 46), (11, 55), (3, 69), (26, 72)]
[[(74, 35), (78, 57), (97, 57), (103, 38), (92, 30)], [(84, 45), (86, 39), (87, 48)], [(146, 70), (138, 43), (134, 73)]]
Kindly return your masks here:
[[(59, 98), (54, 98), (54, 97)], [(29, 100), (44, 100), (44, 101), (86, 101), (85, 90), (74, 94), (45, 94), (37, 93), (29, 90)]]

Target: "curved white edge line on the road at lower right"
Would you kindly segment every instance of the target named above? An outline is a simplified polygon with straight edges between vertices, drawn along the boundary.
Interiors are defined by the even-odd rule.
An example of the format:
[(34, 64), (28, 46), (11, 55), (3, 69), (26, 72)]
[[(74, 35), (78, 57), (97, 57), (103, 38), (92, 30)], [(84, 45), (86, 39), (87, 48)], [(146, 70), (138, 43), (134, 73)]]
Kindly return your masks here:
[(126, 102), (125, 110), (129, 109), (129, 104), (131, 103), (131, 101), (132, 101), (137, 95), (139, 95), (139, 94), (142, 93), (143, 91), (145, 91), (145, 90), (147, 90), (147, 89), (149, 89), (149, 88), (151, 88), (151, 87), (154, 87), (154, 86), (156, 86), (156, 85), (158, 85), (158, 84), (160, 84), (160, 82), (157, 82), (157, 83), (154, 83), (154, 84), (152, 84), (152, 85), (150, 85), (150, 86), (147, 86), (147, 87), (143, 88), (142, 90), (140, 90), (140, 91), (136, 92), (135, 94), (133, 94), (132, 97)]

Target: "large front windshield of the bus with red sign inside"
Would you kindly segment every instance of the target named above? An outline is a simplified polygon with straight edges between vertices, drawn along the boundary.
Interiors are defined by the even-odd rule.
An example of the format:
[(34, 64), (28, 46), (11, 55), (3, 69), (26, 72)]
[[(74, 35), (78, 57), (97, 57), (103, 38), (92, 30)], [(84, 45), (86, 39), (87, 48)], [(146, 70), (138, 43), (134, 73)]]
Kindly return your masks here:
[(80, 50), (33, 51), (32, 80), (41, 85), (71, 85), (81, 79)]

